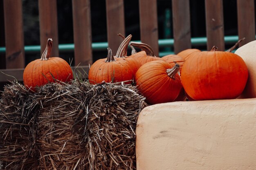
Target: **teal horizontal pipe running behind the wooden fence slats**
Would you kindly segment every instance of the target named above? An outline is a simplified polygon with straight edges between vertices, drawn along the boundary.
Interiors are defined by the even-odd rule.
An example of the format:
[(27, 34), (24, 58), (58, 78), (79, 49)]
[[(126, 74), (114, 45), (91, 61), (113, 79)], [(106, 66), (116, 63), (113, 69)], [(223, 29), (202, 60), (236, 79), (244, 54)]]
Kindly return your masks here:
[[(238, 41), (238, 36), (225, 36), (224, 37), (225, 44), (235, 44)], [(136, 41), (140, 42), (140, 41)], [(200, 46), (206, 45), (207, 38), (206, 37), (196, 37), (191, 38), (192, 46)], [(174, 40), (173, 39), (161, 39), (158, 40), (159, 47), (168, 47), (173, 46)], [(92, 43), (92, 50), (93, 51), (102, 51), (106, 50), (108, 47), (108, 42), (93, 42)], [(67, 51), (74, 51), (74, 44), (59, 44), (58, 45), (60, 52), (67, 52)], [(40, 45), (33, 45), (33, 46), (25, 46), (24, 47), (26, 53), (34, 53), (40, 51)], [(0, 47), (0, 53), (5, 53), (5, 47)]]

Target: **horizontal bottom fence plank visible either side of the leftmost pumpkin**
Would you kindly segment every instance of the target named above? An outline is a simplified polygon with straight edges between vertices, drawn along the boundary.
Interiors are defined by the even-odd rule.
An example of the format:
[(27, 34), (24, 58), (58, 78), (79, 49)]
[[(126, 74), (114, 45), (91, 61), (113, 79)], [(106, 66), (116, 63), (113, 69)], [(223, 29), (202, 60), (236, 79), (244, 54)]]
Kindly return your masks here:
[[(89, 66), (72, 66), (71, 68), (74, 71), (74, 74), (79, 75), (81, 73), (82, 75), (84, 74), (85, 78), (88, 78)], [(13, 81), (15, 79), (22, 82), (23, 72), (24, 68), (0, 69), (0, 82), (7, 82), (7, 80)], [(85, 72), (87, 74), (85, 74)]]

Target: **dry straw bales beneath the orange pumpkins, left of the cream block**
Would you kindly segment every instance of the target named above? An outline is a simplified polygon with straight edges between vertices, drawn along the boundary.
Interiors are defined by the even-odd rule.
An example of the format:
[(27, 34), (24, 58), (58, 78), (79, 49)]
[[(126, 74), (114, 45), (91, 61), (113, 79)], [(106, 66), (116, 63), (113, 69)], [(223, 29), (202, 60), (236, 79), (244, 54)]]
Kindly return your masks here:
[(134, 170), (145, 106), (132, 85), (74, 81), (32, 94), (12, 82), (0, 99), (3, 169)]

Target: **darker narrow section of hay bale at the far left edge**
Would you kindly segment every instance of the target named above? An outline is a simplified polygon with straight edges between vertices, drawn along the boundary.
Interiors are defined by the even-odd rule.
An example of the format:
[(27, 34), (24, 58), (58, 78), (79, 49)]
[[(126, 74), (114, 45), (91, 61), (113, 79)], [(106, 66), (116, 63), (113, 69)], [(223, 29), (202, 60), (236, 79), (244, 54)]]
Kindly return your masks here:
[(38, 104), (23, 85), (12, 82), (0, 98), (0, 162), (8, 170), (34, 170), (38, 166), (35, 119)]

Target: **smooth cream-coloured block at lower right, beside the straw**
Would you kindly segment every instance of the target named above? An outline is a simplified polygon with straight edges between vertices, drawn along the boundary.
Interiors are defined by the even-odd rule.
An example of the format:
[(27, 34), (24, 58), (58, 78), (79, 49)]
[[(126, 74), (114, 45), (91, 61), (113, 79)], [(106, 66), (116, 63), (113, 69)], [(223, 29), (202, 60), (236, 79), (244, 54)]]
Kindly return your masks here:
[(256, 170), (256, 99), (148, 106), (136, 135), (137, 170)]

